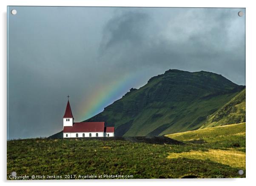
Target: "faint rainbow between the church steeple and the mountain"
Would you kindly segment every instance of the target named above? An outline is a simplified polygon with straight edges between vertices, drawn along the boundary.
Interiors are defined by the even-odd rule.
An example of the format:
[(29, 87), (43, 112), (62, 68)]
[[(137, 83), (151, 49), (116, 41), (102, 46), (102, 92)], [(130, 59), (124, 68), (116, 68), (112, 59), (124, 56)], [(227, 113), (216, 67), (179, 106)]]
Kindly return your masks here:
[(136, 85), (137, 78), (141, 75), (126, 75), (118, 81), (113, 81), (105, 86), (99, 87), (94, 94), (82, 101), (80, 109), (82, 111), (82, 121), (93, 117), (94, 115), (103, 111), (103, 109), (118, 100), (126, 92)]

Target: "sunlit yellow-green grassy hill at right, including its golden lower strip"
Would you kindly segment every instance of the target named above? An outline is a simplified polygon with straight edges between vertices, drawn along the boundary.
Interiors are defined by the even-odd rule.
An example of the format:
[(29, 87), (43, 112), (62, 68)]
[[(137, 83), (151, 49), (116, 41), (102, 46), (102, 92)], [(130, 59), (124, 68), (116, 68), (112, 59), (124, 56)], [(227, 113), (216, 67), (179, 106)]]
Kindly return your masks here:
[(245, 123), (205, 128), (166, 135), (187, 143), (198, 142), (207, 151), (191, 150), (169, 153), (168, 158), (209, 159), (231, 167), (245, 169)]

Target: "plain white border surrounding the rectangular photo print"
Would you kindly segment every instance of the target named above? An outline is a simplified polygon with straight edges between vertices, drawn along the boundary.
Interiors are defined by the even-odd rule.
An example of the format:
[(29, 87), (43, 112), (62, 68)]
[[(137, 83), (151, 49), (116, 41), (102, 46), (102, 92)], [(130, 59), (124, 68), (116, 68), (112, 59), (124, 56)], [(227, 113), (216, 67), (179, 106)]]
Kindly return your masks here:
[[(82, 182), (82, 184), (111, 184), (111, 185), (131, 185), (134, 183), (156, 185), (156, 184), (171, 184), (171, 185), (196, 185), (205, 186), (205, 184), (211, 186), (216, 184), (232, 184), (232, 185), (250, 185), (253, 183), (253, 178), (255, 174), (255, 155), (256, 142), (255, 132), (256, 132), (256, 122), (254, 120), (254, 113), (256, 109), (255, 101), (255, 18), (256, 10), (255, 5), (252, 0), (175, 0), (175, 1), (165, 1), (165, 0), (1, 0), (1, 72), (0, 72), (0, 118), (1, 118), (1, 169), (0, 178), (3, 184), (19, 184), (19, 185), (42, 185), (48, 183), (61, 183), (62, 185), (72, 185), (77, 184), (77, 182)], [(34, 180), (34, 181), (6, 181), (6, 6), (148, 6), (148, 7), (239, 7), (246, 8), (246, 120), (247, 120), (247, 130), (246, 130), (246, 177), (240, 179), (169, 179), (169, 180)]]

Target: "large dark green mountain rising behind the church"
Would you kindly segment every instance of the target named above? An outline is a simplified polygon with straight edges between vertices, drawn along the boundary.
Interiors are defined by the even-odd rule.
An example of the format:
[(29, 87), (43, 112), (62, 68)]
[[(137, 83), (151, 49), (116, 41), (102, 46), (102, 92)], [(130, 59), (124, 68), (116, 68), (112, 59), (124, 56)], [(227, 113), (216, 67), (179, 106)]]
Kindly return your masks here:
[[(212, 72), (170, 69), (141, 88), (130, 89), (86, 121), (106, 121), (108, 126), (115, 126), (116, 136), (157, 136), (196, 130), (204, 123), (205, 127), (210, 126), (216, 118), (235, 123), (232, 118), (238, 117), (228, 119), (228, 114), (243, 112), (238, 107), (230, 111), (225, 104), (239, 104), (236, 99), (240, 99), (242, 89), (245, 86)], [(227, 109), (222, 117), (220, 113)]]

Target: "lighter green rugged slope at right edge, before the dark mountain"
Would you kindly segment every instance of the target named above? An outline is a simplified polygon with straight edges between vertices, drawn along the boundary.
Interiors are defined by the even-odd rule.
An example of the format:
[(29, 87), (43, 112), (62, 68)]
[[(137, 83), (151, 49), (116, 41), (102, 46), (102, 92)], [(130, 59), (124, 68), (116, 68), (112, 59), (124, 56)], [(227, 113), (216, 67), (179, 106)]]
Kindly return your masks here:
[(208, 116), (201, 128), (245, 122), (245, 89)]

